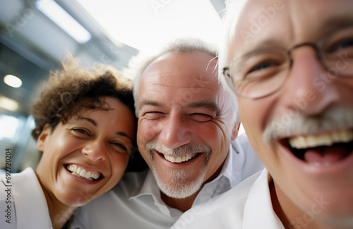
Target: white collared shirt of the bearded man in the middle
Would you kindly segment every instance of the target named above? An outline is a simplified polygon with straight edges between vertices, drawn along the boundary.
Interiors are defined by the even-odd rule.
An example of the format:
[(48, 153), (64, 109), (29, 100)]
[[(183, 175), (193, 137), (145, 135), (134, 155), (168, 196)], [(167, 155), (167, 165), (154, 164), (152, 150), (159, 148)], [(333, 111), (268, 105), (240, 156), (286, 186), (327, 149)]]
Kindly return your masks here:
[[(193, 209), (263, 169), (245, 135), (232, 141), (225, 164), (213, 181), (205, 184), (193, 202)], [(148, 169), (127, 172), (109, 192), (78, 209), (69, 228), (170, 228), (183, 214), (161, 199), (160, 190)]]

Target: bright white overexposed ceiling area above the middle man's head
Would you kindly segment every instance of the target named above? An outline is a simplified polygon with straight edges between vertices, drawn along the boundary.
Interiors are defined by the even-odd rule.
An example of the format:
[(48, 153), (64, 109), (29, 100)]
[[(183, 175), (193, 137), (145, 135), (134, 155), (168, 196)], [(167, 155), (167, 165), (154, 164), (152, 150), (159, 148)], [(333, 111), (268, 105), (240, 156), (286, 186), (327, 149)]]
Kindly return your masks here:
[(218, 42), (223, 0), (77, 0), (114, 40), (147, 52), (175, 37)]

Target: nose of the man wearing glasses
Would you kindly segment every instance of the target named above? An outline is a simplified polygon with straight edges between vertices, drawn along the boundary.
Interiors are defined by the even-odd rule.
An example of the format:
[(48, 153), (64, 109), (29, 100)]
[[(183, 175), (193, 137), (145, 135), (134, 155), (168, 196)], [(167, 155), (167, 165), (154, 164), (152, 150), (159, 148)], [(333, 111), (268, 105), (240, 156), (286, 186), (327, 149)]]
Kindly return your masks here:
[(307, 116), (320, 114), (339, 101), (339, 88), (332, 72), (326, 70), (313, 47), (300, 47), (292, 53), (293, 64), (282, 88), (282, 100), (289, 109)]

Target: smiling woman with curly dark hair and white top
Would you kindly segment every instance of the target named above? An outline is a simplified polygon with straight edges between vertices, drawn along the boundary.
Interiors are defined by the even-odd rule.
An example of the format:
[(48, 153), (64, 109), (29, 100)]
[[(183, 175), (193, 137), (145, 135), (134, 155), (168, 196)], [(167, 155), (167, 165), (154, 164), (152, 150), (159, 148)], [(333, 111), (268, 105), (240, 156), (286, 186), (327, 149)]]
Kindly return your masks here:
[(81, 69), (67, 57), (32, 114), (42, 158), (35, 171), (0, 177), (0, 228), (62, 228), (119, 182), (135, 142), (132, 83), (107, 65)]

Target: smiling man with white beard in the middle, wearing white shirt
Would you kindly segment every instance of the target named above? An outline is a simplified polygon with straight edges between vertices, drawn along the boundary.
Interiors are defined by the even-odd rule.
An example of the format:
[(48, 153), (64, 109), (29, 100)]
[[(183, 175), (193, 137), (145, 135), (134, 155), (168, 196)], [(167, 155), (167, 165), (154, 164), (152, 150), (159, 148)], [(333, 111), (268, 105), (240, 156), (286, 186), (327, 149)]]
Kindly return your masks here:
[(80, 208), (73, 228), (170, 228), (263, 169), (246, 136), (237, 137), (237, 100), (217, 80), (216, 57), (212, 46), (186, 39), (131, 60), (137, 143), (150, 169), (126, 173)]

